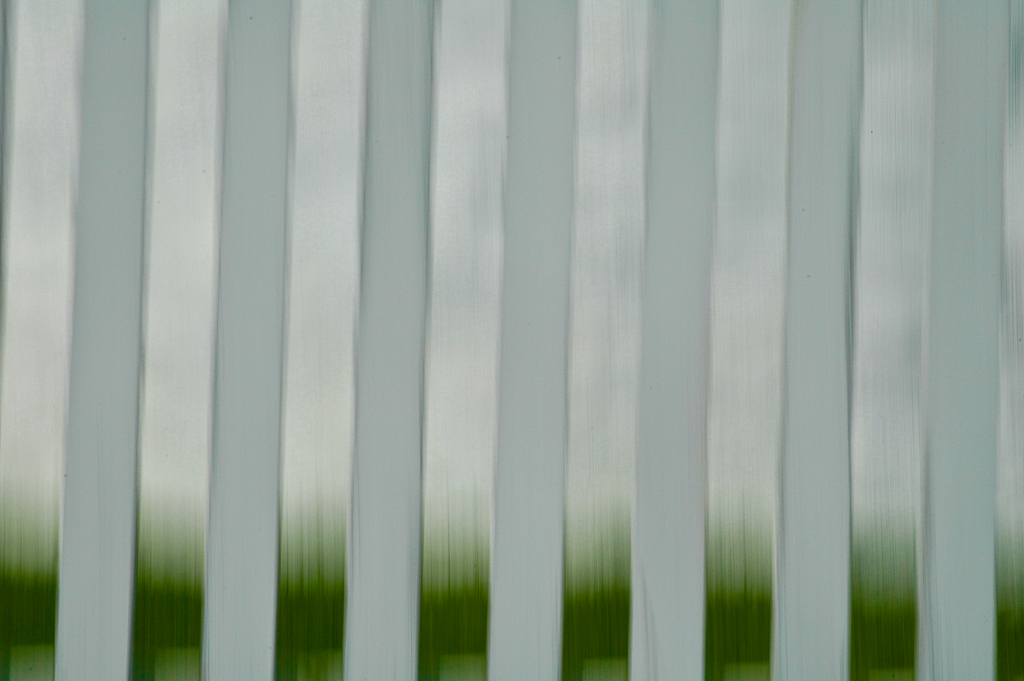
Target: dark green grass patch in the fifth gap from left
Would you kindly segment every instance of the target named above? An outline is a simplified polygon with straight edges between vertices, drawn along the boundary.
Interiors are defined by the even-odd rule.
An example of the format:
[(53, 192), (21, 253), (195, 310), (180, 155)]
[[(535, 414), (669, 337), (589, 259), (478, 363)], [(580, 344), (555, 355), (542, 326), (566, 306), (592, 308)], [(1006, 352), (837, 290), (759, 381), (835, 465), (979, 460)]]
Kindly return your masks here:
[(562, 681), (580, 681), (588, 659), (629, 659), (630, 584), (618, 579), (592, 589), (565, 589)]

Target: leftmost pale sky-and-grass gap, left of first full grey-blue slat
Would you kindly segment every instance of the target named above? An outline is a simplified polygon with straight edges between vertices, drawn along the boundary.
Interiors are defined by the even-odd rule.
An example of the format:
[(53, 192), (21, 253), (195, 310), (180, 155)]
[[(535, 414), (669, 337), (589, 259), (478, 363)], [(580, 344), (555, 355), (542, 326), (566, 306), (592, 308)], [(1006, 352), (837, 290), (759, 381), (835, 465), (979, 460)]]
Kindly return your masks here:
[(50, 679), (82, 6), (80, 0), (18, 0), (4, 9), (0, 678)]

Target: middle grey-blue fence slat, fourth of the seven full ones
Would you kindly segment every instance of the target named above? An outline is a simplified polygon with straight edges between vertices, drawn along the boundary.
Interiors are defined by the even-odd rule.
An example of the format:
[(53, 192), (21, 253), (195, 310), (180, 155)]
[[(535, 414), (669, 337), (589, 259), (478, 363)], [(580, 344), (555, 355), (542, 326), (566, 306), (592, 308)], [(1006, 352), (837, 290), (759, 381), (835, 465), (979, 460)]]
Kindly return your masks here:
[(513, 0), (489, 678), (559, 676), (572, 0)]

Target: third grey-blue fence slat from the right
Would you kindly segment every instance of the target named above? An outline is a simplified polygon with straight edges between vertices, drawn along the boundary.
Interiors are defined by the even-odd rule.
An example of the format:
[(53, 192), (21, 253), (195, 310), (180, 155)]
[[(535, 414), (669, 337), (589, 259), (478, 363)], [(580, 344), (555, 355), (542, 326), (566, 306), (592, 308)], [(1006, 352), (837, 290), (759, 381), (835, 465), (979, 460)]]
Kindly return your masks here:
[(719, 3), (654, 0), (631, 678), (703, 678)]

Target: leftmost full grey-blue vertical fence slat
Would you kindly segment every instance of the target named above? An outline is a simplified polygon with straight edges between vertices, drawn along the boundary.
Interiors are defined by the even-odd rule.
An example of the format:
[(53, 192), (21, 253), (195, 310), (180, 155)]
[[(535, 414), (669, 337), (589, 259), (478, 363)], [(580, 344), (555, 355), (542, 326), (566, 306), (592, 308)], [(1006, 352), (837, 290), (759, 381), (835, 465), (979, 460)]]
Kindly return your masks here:
[(128, 672), (147, 38), (147, 2), (85, 3), (57, 679)]

